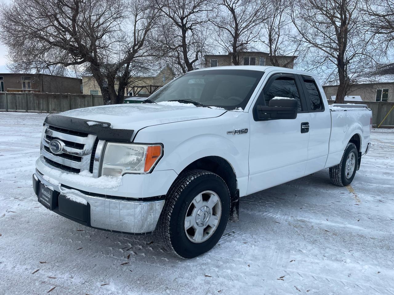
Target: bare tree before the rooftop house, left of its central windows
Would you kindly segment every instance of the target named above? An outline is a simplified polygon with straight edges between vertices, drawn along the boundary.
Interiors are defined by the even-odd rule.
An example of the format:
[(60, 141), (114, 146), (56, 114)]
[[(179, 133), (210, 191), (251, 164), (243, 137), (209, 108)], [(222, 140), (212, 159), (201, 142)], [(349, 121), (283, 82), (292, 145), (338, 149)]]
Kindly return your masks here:
[(218, 30), (219, 45), (231, 53), (234, 65), (240, 65), (240, 52), (258, 42), (267, 19), (264, 0), (222, 0), (217, 18), (211, 22)]

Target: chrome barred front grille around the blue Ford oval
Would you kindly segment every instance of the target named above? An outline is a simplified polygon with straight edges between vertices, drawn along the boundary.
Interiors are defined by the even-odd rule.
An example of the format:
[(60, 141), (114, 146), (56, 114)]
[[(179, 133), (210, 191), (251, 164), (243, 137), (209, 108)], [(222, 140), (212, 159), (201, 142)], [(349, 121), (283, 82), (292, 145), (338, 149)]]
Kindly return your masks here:
[[(62, 142), (59, 153), (49, 148), (51, 140)], [(97, 147), (97, 136), (78, 131), (67, 130), (56, 126), (45, 125), (41, 138), (41, 160), (50, 168), (79, 173), (84, 170), (92, 172), (93, 148)]]

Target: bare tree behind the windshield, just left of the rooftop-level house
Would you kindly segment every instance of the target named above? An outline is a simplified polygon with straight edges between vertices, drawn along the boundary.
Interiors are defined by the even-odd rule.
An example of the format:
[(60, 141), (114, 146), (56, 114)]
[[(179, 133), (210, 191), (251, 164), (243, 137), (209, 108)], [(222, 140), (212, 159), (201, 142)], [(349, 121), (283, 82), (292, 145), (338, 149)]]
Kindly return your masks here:
[(196, 68), (205, 40), (205, 24), (212, 12), (211, 0), (155, 0), (163, 17), (158, 27), (158, 51), (170, 59), (180, 72)]

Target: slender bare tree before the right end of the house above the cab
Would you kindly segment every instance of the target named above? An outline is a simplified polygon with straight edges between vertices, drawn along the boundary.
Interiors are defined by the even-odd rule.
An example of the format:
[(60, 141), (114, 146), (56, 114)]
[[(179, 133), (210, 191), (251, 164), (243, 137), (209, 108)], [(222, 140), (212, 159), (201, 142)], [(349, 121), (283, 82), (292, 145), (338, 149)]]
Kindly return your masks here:
[(294, 57), (287, 60), (284, 55), (293, 56), (300, 42), (290, 40), (292, 20), (290, 17), (290, 0), (272, 0), (264, 23), (260, 41), (268, 48), (268, 59), (272, 66), (289, 67), (294, 63)]

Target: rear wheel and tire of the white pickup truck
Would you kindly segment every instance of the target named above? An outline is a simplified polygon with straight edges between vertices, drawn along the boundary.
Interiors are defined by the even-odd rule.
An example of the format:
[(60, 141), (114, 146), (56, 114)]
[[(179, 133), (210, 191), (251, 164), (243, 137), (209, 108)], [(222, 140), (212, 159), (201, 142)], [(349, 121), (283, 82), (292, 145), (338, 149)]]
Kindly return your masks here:
[[(349, 158), (351, 166), (348, 165)], [(330, 168), (331, 182), (338, 186), (351, 184), (358, 168), (358, 151), (355, 144), (349, 142), (345, 148), (341, 162)], [(353, 171), (352, 171), (353, 170)]]

